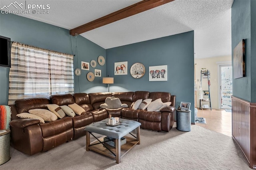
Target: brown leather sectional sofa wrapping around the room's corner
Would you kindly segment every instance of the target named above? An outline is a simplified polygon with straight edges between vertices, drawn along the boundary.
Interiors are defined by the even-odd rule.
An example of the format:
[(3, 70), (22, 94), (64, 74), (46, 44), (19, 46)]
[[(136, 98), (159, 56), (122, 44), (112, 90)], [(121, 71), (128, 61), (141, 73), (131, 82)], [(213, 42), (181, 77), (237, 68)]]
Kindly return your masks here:
[[(118, 97), (122, 103), (126, 103), (128, 108), (101, 109), (100, 105), (105, 102), (106, 97)], [(161, 98), (162, 102), (171, 101), (169, 107), (165, 107), (161, 112), (149, 112), (146, 110), (134, 110), (130, 106), (138, 99)], [(93, 122), (101, 121), (112, 117), (131, 119), (141, 123), (141, 128), (157, 131), (166, 131), (174, 124), (176, 96), (166, 92), (119, 92), (119, 93), (75, 93), (73, 95), (52, 95), (47, 98), (28, 98), (15, 101), (10, 105), (12, 110), (11, 144), (17, 150), (25, 154), (32, 155), (38, 152), (50, 150), (64, 142), (77, 139), (85, 135), (85, 127)], [(16, 115), (28, 113), (30, 109), (48, 109), (47, 104), (57, 104), (59, 106), (76, 103), (86, 112), (75, 117), (64, 117), (53, 122), (40, 123), (36, 119), (22, 119)]]

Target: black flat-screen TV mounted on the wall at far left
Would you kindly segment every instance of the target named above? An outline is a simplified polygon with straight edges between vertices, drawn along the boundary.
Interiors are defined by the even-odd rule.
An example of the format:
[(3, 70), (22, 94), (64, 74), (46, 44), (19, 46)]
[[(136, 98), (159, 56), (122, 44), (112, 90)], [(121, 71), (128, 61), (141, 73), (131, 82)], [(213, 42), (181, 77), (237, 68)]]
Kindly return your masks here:
[(0, 67), (11, 67), (11, 39), (0, 36)]

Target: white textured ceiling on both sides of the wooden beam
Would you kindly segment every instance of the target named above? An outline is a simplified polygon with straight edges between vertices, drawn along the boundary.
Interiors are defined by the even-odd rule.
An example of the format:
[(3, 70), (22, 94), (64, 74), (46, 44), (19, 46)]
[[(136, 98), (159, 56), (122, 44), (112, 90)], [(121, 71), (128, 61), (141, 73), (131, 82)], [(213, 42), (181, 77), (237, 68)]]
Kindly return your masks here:
[[(16, 0), (25, 3), (25, 0)], [(141, 0), (26, 0), (49, 14), (19, 14), (71, 30)], [(15, 0), (1, 0), (0, 7)], [(108, 49), (194, 30), (195, 58), (231, 55), (233, 0), (175, 0), (80, 34)]]

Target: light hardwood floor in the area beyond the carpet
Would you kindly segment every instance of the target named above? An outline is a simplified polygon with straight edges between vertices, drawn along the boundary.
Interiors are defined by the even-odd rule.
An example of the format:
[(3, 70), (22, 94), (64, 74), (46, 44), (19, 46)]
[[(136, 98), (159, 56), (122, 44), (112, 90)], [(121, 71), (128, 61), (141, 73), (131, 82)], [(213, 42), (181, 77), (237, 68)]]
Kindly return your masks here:
[(206, 119), (206, 124), (196, 123), (196, 125), (208, 128), (215, 132), (219, 132), (228, 136), (232, 136), (232, 113), (225, 110), (204, 109), (198, 108), (197, 117)]

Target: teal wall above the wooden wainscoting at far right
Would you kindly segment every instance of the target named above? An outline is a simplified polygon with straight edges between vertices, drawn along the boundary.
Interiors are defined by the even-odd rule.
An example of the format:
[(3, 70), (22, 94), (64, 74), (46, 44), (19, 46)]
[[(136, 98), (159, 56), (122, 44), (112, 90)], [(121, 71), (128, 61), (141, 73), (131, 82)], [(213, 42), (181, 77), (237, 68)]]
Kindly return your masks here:
[(246, 39), (246, 77), (233, 79), (233, 95), (256, 102), (256, 2), (234, 0), (232, 5), (232, 62), (234, 47)]

